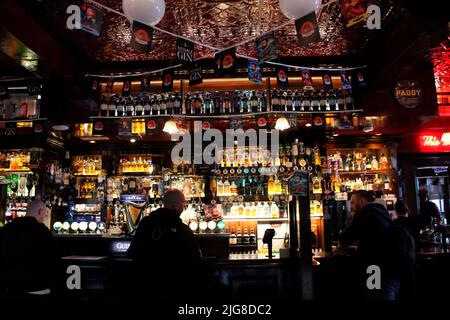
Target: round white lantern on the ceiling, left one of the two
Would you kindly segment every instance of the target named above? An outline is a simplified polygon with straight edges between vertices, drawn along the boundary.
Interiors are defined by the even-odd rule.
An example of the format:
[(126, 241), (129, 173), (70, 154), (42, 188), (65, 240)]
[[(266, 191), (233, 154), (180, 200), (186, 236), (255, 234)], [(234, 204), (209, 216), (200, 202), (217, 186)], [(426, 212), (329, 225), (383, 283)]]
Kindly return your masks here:
[(154, 26), (164, 17), (166, 3), (164, 0), (123, 0), (122, 8), (128, 19)]

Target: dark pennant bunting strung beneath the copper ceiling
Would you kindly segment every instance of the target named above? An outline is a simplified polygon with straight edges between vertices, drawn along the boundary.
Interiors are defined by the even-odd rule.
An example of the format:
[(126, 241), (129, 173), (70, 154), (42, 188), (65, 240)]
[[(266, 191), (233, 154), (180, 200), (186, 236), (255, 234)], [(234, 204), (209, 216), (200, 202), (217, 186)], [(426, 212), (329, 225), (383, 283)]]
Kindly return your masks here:
[[(337, 0), (328, 2), (324, 6), (328, 6), (333, 2), (336, 2)], [(342, 8), (342, 14), (341, 17), (344, 19), (344, 24), (347, 26), (351, 26), (351, 21), (358, 20), (358, 17), (353, 17), (346, 12), (348, 11), (349, 3), (348, 1), (343, 1), (341, 3)], [(345, 6), (344, 6), (345, 5)], [(113, 12), (115, 14), (118, 14), (120, 16), (123, 16), (126, 18), (125, 14), (114, 10), (110, 7), (107, 7), (103, 4), (100, 4), (94, 0), (84, 0), (84, 3), (81, 5), (81, 29), (89, 32), (95, 36), (100, 36), (101, 34), (101, 27), (103, 24), (105, 11)], [(363, 13), (361, 13), (363, 14)], [(362, 20), (362, 19), (359, 19)], [(269, 32), (260, 35), (255, 38), (250, 38), (249, 40), (245, 40), (243, 42), (240, 42), (233, 47), (229, 47), (226, 49), (219, 49), (215, 48), (213, 46), (210, 46), (208, 44), (200, 43), (196, 40), (189, 39), (187, 37), (174, 34), (172, 32), (169, 32), (167, 30), (160, 29), (156, 26), (149, 26), (146, 24), (143, 24), (139, 21), (133, 21), (132, 22), (132, 28), (131, 28), (131, 41), (130, 46), (136, 50), (142, 51), (142, 52), (150, 52), (152, 48), (152, 38), (154, 30), (157, 30), (159, 32), (163, 32), (165, 34), (169, 34), (176, 38), (176, 60), (177, 64), (173, 66), (169, 66), (166, 68), (153, 70), (153, 71), (146, 71), (146, 72), (138, 72), (138, 73), (132, 73), (127, 75), (114, 75), (113, 78), (129, 78), (129, 77), (139, 77), (142, 76), (144, 78), (147, 78), (149, 80), (149, 75), (156, 74), (156, 73), (162, 73), (162, 82), (163, 82), (163, 90), (171, 90), (171, 87), (173, 86), (173, 79), (174, 79), (174, 72), (173, 70), (184, 66), (187, 67), (190, 70), (190, 81), (189, 85), (195, 85), (202, 82), (202, 73), (201, 69), (198, 65), (198, 60), (204, 59), (194, 59), (194, 50), (195, 45), (200, 45), (203, 47), (207, 47), (211, 50), (214, 50), (214, 61), (215, 61), (215, 75), (218, 77), (226, 77), (226, 76), (232, 76), (236, 72), (236, 63), (237, 63), (237, 57), (241, 58), (247, 58), (248, 59), (248, 78), (250, 81), (261, 83), (262, 82), (262, 72), (261, 72), (261, 65), (263, 63), (271, 64), (276, 67), (277, 74), (286, 75), (286, 81), (283, 82), (283, 79), (281, 80), (281, 83), (287, 84), (287, 69), (288, 68), (294, 68), (296, 70), (302, 70), (302, 74), (305, 71), (314, 71), (314, 70), (320, 70), (320, 71), (326, 71), (326, 72), (342, 72), (346, 73), (351, 70), (360, 70), (365, 68), (366, 66), (357, 66), (357, 67), (339, 67), (339, 68), (328, 68), (328, 67), (307, 67), (307, 66), (294, 66), (294, 65), (287, 65), (278, 62), (278, 54), (277, 54), (277, 47), (276, 47), (276, 41), (275, 41), (275, 35), (274, 31), (277, 29), (280, 29), (288, 24), (292, 23), (292, 21), (288, 21), (284, 23), (281, 26), (278, 26)], [(311, 12), (310, 14), (301, 17), (295, 21), (295, 27), (297, 30), (297, 42), (299, 46), (306, 46), (313, 42), (316, 42), (321, 39), (319, 27), (317, 23), (317, 17), (315, 12)], [(247, 57), (244, 55), (236, 54), (236, 47), (255, 40), (256, 45), (256, 51), (257, 51), (257, 58), (255, 57)], [(280, 71), (281, 70), (281, 71)], [(358, 77), (362, 77), (362, 72), (358, 72)], [(99, 75), (99, 74), (86, 74), (86, 77), (94, 77), (94, 78), (112, 78), (111, 75)], [(94, 80), (95, 81), (95, 80)], [(113, 81), (113, 79), (108, 79), (108, 82)], [(124, 80), (124, 83), (126, 83), (129, 80)]]

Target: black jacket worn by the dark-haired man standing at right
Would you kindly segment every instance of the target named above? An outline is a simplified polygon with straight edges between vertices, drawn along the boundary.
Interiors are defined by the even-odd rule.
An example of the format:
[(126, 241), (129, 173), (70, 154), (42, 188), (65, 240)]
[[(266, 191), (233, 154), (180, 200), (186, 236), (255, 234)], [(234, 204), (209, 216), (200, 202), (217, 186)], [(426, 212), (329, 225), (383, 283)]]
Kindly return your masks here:
[(370, 203), (359, 210), (350, 225), (340, 234), (343, 246), (358, 241), (358, 255), (364, 265), (382, 265), (385, 253), (385, 231), (392, 225), (387, 209), (379, 203)]

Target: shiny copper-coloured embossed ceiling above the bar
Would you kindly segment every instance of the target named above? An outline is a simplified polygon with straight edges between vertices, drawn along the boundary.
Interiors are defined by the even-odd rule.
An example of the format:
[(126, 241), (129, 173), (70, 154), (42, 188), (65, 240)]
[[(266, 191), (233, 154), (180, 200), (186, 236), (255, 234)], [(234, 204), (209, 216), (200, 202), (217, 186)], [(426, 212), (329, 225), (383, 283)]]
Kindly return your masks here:
[[(259, 4), (259, 1), (262, 1)], [(122, 11), (122, 0), (98, 0), (113, 9)], [(323, 4), (331, 2), (323, 0)], [(66, 29), (65, 13), (74, 1), (43, 2), (46, 24), (64, 40), (71, 39), (71, 45), (98, 62), (150, 61), (174, 58), (175, 39), (155, 31), (153, 49), (144, 54), (133, 50), (130, 41), (130, 23), (115, 13), (104, 18), (101, 37), (97, 38), (79, 30)], [(75, 1), (76, 3), (76, 1)], [(389, 22), (396, 14), (397, 6), (392, 1), (379, 3), (382, 23)], [(261, 7), (261, 10), (260, 10)], [(319, 11), (318, 20), (322, 40), (300, 48), (296, 43), (294, 22), (276, 31), (277, 47), (282, 57), (292, 56), (340, 56), (355, 54), (364, 47), (371, 33), (365, 25), (346, 28), (340, 21), (339, 1)], [(158, 27), (175, 34), (181, 34), (201, 43), (217, 48), (233, 46), (249, 39), (257, 32), (261, 20), (261, 31), (266, 32), (282, 25), (288, 19), (281, 13), (278, 0), (245, 1), (188, 1), (166, 0), (166, 13)], [(255, 56), (254, 41), (237, 48), (246, 56)], [(196, 58), (210, 56), (212, 51), (196, 46)]]

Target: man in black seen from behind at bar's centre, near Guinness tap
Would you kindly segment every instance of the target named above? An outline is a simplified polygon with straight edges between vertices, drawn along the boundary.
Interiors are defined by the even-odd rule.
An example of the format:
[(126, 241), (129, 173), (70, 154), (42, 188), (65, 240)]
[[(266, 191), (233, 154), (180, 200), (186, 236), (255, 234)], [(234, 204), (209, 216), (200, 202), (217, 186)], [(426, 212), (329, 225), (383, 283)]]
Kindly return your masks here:
[(138, 276), (136, 289), (141, 297), (157, 300), (192, 298), (201, 283), (201, 252), (180, 219), (184, 194), (169, 189), (163, 202), (164, 208), (142, 219), (128, 249)]

